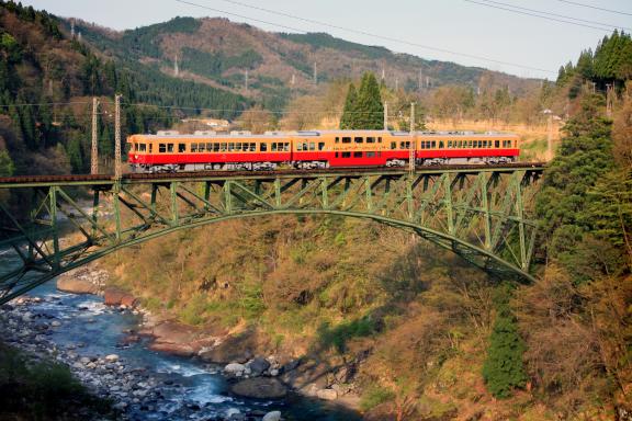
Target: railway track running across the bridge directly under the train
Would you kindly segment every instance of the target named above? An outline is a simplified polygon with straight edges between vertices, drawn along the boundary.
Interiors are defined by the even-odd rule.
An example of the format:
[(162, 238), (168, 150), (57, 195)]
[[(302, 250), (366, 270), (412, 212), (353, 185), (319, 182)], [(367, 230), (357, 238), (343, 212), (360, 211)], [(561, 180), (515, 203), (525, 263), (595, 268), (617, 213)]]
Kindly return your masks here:
[[(466, 171), (466, 170), (503, 170), (503, 169), (540, 169), (545, 167), (544, 162), (517, 162), (512, 164), (497, 164), (497, 166), (482, 166), (482, 164), (463, 164), (463, 166), (418, 166), (419, 172), (441, 172), (441, 171)], [(206, 178), (242, 178), (242, 177), (273, 177), (273, 175), (319, 175), (319, 174), (365, 174), (365, 173), (393, 173), (400, 174), (408, 172), (407, 168), (403, 167), (343, 167), (343, 168), (328, 168), (319, 170), (276, 170), (276, 171), (196, 171), (196, 172), (172, 172), (172, 173), (125, 173), (123, 180), (173, 180), (173, 179), (206, 179)], [(81, 182), (90, 184), (113, 182), (114, 175), (112, 174), (65, 174), (65, 175), (15, 175), (0, 178), (0, 186), (2, 184), (33, 184), (33, 183), (74, 183)]]

